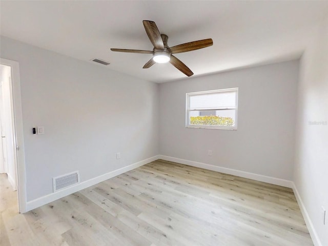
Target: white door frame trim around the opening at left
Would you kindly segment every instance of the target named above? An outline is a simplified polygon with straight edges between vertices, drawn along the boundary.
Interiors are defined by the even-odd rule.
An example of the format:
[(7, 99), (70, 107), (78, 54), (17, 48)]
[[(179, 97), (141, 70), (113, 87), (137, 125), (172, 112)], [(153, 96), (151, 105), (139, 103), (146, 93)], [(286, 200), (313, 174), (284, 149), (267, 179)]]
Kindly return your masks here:
[(13, 115), (13, 132), (14, 145), (16, 147), (16, 174), (17, 174), (17, 198), (18, 212), (27, 212), (26, 200), (26, 168), (25, 168), (25, 152), (24, 152), (24, 133), (23, 133), (23, 114), (22, 114), (22, 98), (20, 95), (19, 81), (19, 64), (17, 61), (0, 58), (0, 64), (11, 67), (11, 97), (12, 97), (12, 115)]

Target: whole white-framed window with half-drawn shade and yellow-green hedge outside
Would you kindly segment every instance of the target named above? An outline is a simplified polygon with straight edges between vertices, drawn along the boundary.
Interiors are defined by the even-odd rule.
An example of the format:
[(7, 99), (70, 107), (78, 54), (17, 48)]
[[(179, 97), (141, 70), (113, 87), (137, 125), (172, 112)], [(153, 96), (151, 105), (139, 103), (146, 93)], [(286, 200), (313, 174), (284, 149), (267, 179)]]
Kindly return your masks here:
[(237, 130), (238, 88), (186, 94), (186, 127)]

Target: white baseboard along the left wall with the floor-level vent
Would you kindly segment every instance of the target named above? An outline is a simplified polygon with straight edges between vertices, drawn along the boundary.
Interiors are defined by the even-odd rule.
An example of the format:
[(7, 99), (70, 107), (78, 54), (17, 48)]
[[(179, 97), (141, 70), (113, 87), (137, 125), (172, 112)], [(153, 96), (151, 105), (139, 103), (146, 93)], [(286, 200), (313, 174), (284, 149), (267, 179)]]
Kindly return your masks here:
[(100, 175), (98, 177), (95, 177), (95, 178), (92, 178), (92, 179), (89, 179), (89, 180), (86, 180), (86, 181), (83, 181), (83, 182), (80, 182), (72, 187), (69, 187), (67, 189), (64, 189), (64, 190), (60, 190), (60, 191), (57, 191), (57, 192), (54, 192), (54, 193), (51, 193), (51, 194), (48, 194), (48, 195), (45, 195), (43, 197), (39, 197), (37, 199), (34, 199), (34, 200), (31, 200), (31, 201), (28, 201), (27, 202), (27, 206), (26, 206), (26, 211), (24, 212), (28, 212), (32, 209), (35, 209), (35, 208), (38, 208), (40, 206), (43, 206), (49, 202), (52, 202), (54, 200), (57, 200), (57, 199), (60, 199), (64, 196), (68, 196), (74, 192), (77, 192), (77, 191), (80, 191), (80, 190), (83, 190), (83, 189), (86, 189), (90, 186), (93, 186), (93, 185), (96, 185), (97, 183), (99, 182), (103, 182), (109, 178), (112, 178), (112, 177), (115, 177), (119, 174), (122, 174), (122, 173), (125, 173), (125, 172), (128, 172), (132, 169), (135, 169), (135, 168), (138, 168), (140, 166), (143, 166), (149, 162), (152, 162), (154, 160), (157, 160), (158, 159), (158, 155), (156, 156), (153, 156), (153, 157), (150, 157), (148, 159), (145, 159), (145, 160), (141, 160), (141, 161), (138, 161), (136, 163), (133, 163), (127, 167), (123, 167), (123, 168), (120, 168), (120, 169), (117, 169), (117, 170), (114, 170), (114, 171), (111, 171), (109, 173), (105, 173), (103, 175)]

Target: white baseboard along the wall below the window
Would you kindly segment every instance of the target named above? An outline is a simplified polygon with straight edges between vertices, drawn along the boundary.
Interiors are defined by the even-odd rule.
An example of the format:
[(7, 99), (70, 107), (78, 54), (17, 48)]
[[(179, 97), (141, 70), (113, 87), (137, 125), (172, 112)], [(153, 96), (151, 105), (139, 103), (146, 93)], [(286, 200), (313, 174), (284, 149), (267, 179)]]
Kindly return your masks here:
[(264, 175), (260, 175), (260, 174), (239, 171), (236, 169), (223, 168), (223, 167), (214, 166), (214, 165), (210, 165), (210, 164), (206, 164), (206, 163), (202, 163), (202, 162), (185, 160), (185, 159), (180, 159), (180, 158), (175, 158), (175, 157), (165, 156), (165, 155), (159, 155), (158, 158), (163, 159), (163, 160), (178, 162), (178, 163), (189, 165), (189, 166), (196, 167), (196, 168), (208, 169), (208, 170), (212, 170), (212, 171), (216, 171), (216, 172), (220, 172), (220, 173), (227, 173), (227, 174), (235, 175), (238, 177), (250, 178), (250, 179), (257, 180), (257, 181), (272, 183), (273, 185), (293, 188), (293, 182), (290, 180), (286, 180), (286, 179), (274, 178), (274, 177), (270, 177), (270, 176), (264, 176)]

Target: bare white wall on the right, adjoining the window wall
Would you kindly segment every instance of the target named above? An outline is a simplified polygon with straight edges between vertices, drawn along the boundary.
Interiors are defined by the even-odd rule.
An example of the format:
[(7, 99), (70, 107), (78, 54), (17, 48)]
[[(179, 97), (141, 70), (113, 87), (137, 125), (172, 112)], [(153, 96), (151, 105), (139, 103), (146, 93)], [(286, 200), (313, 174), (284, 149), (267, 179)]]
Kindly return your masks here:
[(316, 245), (328, 245), (328, 16), (301, 58), (298, 94), (294, 182)]

